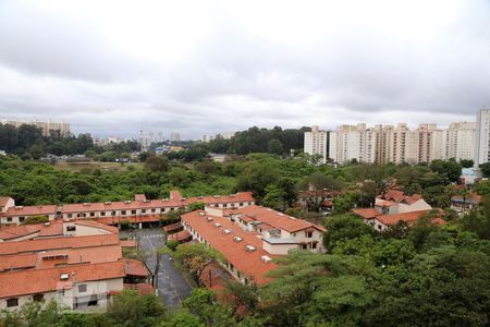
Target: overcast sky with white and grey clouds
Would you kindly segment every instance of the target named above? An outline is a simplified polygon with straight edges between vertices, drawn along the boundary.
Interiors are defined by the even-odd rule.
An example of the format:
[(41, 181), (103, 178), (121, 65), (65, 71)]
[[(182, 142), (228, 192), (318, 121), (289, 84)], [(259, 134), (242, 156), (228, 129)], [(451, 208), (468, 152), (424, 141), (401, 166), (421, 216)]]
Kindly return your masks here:
[(487, 0), (0, 0), (0, 119), (197, 138), (489, 104)]

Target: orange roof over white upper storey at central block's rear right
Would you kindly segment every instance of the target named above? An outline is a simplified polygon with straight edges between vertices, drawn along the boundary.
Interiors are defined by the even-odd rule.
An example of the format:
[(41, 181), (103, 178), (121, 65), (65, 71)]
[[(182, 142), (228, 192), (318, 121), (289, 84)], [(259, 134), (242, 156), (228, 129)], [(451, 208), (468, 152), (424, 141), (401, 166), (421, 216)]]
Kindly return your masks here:
[(296, 232), (310, 227), (322, 232), (326, 231), (326, 229), (321, 226), (284, 215), (270, 208), (259, 207), (256, 205), (236, 209), (235, 214), (245, 215), (241, 216), (242, 220), (244, 220), (245, 217), (248, 217), (248, 219), (252, 218), (254, 220), (259, 220), (277, 229), (283, 229), (289, 232)]

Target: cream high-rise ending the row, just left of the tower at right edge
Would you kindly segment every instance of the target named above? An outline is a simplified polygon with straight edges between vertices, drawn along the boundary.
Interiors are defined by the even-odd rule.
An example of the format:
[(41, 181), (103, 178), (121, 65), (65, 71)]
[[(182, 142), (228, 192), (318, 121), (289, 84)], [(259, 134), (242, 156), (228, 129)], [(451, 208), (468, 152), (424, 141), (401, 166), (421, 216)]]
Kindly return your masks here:
[(455, 122), (442, 131), (442, 158), (475, 160), (476, 123)]

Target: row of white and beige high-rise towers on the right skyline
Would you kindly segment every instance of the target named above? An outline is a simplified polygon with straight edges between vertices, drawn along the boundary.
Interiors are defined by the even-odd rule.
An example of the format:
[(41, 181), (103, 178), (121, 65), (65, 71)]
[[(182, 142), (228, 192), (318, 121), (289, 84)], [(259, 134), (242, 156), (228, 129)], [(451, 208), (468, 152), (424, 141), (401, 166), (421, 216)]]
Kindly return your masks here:
[[(490, 113), (486, 119), (490, 121)], [(482, 141), (481, 152), (487, 150), (488, 158), (490, 131), (488, 123), (486, 126), (487, 142)], [(352, 160), (417, 165), (434, 159), (474, 159), (476, 134), (476, 124), (473, 122), (452, 123), (445, 130), (438, 129), (437, 124), (419, 124), (417, 129), (411, 130), (406, 123), (396, 126), (377, 124), (373, 128), (359, 123), (341, 125), (332, 132), (320, 132), (318, 126), (314, 126), (313, 132), (305, 133), (305, 153), (323, 155), (321, 152), (327, 147), (321, 142), (329, 140), (324, 158), (340, 165)]]

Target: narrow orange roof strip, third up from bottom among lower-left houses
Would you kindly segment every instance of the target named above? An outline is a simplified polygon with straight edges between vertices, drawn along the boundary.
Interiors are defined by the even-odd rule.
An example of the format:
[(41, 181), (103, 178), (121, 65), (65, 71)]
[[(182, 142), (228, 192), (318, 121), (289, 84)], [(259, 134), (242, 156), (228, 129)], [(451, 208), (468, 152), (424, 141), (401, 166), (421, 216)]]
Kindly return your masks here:
[(1, 242), (0, 255), (119, 244), (118, 234)]

